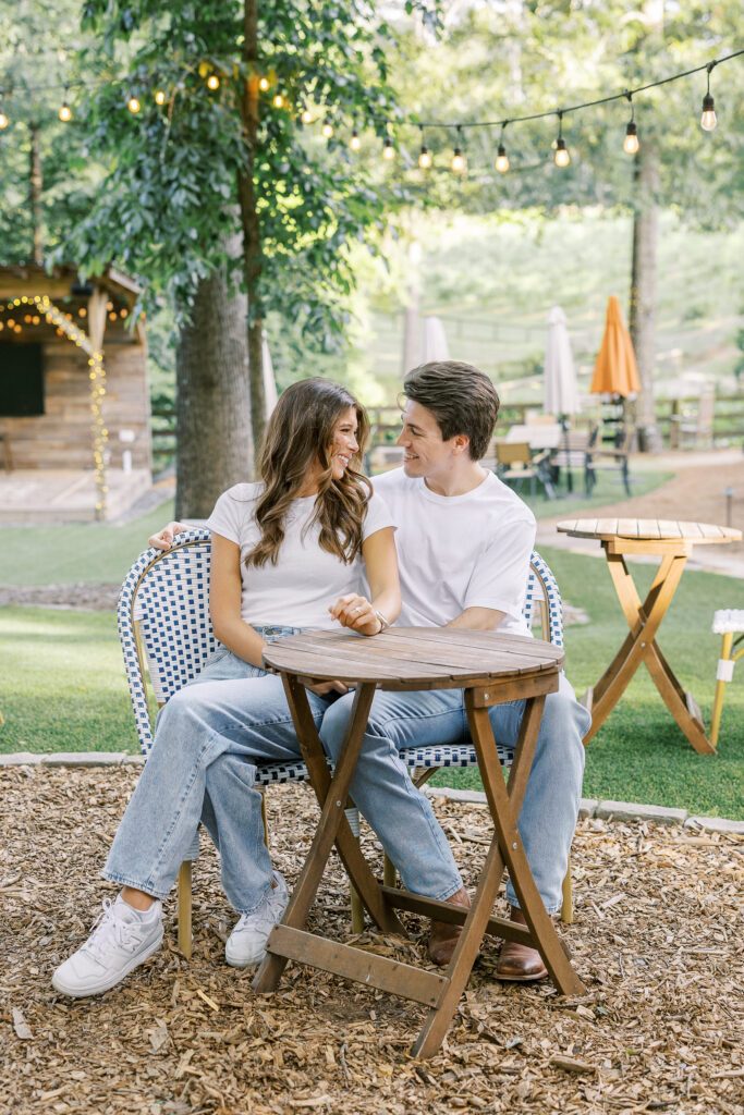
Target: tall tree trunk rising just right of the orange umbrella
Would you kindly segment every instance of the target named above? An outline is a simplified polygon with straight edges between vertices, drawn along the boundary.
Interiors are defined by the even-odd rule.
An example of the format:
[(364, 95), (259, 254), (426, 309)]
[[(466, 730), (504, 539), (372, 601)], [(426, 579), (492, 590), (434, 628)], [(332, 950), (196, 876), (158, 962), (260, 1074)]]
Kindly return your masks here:
[(658, 154), (651, 139), (636, 155), (632, 217), (632, 263), (630, 274), (630, 339), (636, 350), (640, 396), (635, 406), (638, 447), (659, 453), (661, 435), (654, 409), (656, 360), (656, 241), (659, 181)]

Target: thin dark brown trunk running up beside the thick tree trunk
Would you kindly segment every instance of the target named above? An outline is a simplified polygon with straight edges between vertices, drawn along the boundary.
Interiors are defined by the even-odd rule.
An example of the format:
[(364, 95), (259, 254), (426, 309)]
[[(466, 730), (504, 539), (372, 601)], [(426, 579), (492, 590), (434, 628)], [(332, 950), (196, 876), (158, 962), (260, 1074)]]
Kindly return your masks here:
[(258, 0), (245, 0), (243, 32), (243, 60), (248, 68), (248, 75), (241, 103), (241, 117), (248, 161), (243, 171), (238, 175), (238, 196), (243, 226), (245, 289), (251, 310), (248, 321), (251, 423), (253, 444), (260, 446), (265, 425), (265, 392), (263, 390), (263, 312), (258, 294), (258, 280), (261, 274), (261, 226), (253, 187), (253, 157), (259, 127)]

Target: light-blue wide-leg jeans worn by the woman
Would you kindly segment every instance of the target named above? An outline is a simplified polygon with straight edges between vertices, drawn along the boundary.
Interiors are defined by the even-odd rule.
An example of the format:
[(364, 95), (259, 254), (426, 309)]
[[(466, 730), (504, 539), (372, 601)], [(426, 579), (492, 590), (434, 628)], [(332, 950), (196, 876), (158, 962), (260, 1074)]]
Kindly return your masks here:
[[(258, 630), (269, 641), (299, 633)], [(312, 692), (308, 698), (318, 727), (329, 701)], [(238, 913), (251, 913), (272, 884), (255, 767), (298, 758), (281, 678), (220, 648), (161, 709), (104, 878), (166, 898), (181, 863), (191, 857), (201, 820), (220, 852), (230, 904)]]

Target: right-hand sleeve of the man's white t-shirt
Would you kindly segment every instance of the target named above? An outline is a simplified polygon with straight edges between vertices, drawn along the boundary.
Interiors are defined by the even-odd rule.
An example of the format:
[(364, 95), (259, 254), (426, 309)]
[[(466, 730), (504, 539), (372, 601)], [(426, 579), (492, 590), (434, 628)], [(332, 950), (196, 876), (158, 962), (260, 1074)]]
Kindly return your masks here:
[(500, 524), (479, 558), (465, 592), (465, 608), (493, 608), (519, 619), (534, 549), (534, 520), (520, 516)]

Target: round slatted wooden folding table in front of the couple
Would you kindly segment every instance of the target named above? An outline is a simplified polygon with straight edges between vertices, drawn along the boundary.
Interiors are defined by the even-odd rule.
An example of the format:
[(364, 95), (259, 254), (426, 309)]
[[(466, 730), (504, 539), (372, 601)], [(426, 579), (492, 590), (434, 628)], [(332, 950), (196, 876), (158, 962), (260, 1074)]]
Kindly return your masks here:
[[(540, 899), (516, 828), (545, 696), (558, 689), (562, 650), (535, 639), (491, 631), (395, 628), (373, 639), (336, 631), (290, 636), (265, 647), (263, 661), (281, 675), (321, 813), (284, 917), (269, 937), (254, 989), (273, 990), (288, 960), (294, 960), (423, 1004), (428, 1011), (413, 1046), (414, 1055), (422, 1057), (433, 1055), (442, 1044), (486, 933), (539, 949), (550, 977), (563, 995), (584, 993)], [(328, 680), (356, 687), (346, 739), (332, 776), (305, 689)], [(381, 885), (351, 834), (345, 807), (377, 688), (465, 690), (467, 720), (494, 827), (470, 910)], [(520, 699), (525, 700), (525, 710), (506, 785), (489, 708)], [(463, 925), (452, 961), (443, 973), (371, 954), (305, 929), (334, 844), (351, 883), (383, 932), (405, 935), (396, 910)], [(509, 870), (526, 925), (492, 917), (504, 867)]]

